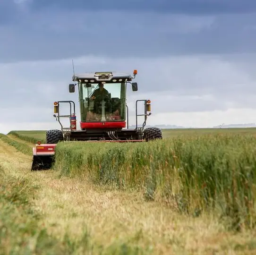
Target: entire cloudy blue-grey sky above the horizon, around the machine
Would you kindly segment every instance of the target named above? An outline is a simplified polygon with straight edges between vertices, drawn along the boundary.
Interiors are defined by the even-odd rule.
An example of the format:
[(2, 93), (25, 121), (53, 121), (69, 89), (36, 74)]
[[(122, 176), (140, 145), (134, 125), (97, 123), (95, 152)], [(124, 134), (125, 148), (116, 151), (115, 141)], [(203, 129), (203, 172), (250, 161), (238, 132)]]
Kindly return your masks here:
[(256, 123), (255, 14), (255, 0), (0, 0), (0, 132), (60, 127), (72, 59), (77, 73), (138, 70), (130, 124), (140, 98), (150, 125)]

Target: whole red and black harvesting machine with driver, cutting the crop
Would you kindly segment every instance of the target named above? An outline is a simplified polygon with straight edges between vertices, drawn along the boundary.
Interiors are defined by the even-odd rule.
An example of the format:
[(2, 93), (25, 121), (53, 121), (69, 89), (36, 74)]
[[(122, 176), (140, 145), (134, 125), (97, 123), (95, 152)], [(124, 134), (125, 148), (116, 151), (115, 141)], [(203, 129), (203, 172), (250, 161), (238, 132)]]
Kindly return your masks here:
[[(63, 141), (85, 142), (147, 142), (162, 139), (162, 131), (157, 127), (145, 128), (146, 120), (151, 115), (151, 101), (136, 101), (136, 127), (128, 128), (128, 105), (126, 103), (127, 85), (137, 91), (136, 82), (131, 82), (137, 75), (125, 73), (95, 72), (73, 76), (74, 84), (69, 84), (69, 93), (77, 86), (80, 104), (80, 129), (77, 129), (75, 102), (54, 102), (53, 117), (60, 123), (60, 130), (46, 131), (46, 144), (37, 142), (33, 148), (31, 170), (50, 169), (54, 161), (55, 146)], [(138, 114), (138, 102), (144, 103), (144, 113)], [(69, 114), (60, 114), (60, 105), (69, 106)], [(144, 116), (142, 127), (138, 126), (138, 117)], [(68, 118), (69, 127), (63, 127), (60, 119)], [(127, 127), (127, 128), (126, 128)]]

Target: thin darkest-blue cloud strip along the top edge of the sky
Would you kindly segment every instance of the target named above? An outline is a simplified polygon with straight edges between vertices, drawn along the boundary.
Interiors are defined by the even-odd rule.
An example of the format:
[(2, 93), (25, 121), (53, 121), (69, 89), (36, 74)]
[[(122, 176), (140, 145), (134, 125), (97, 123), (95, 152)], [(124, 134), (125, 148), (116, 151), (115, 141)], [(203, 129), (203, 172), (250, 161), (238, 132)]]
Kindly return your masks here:
[(94, 0), (94, 1), (69, 1), (69, 0), (35, 0), (32, 8), (61, 8), (61, 9), (87, 9), (87, 10), (126, 10), (155, 11), (161, 13), (241, 13), (256, 10), (254, 0)]

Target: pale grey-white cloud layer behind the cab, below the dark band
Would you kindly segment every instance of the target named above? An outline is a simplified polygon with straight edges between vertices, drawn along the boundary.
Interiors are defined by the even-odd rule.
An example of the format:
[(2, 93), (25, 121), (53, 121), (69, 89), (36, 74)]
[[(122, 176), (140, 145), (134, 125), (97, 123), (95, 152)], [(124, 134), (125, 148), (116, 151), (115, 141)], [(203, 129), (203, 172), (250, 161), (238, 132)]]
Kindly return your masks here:
[[(230, 107), (256, 108), (256, 83), (250, 76), (252, 70), (241, 69), (238, 60), (223, 60), (222, 56), (163, 59), (91, 57), (74, 59), (74, 63), (76, 73), (101, 70), (132, 73), (137, 69), (139, 90), (132, 92), (128, 87), (130, 113), (134, 111), (137, 99), (147, 98), (152, 100), (154, 114), (227, 110)], [(0, 107), (5, 108), (12, 98), (11, 108), (15, 109), (10, 115), (12, 118), (17, 115), (19, 121), (24, 116), (35, 122), (54, 121), (54, 101), (73, 100), (78, 107), (77, 93), (68, 93), (72, 75), (71, 59), (0, 65), (2, 84), (6, 85), (0, 94)], [(9, 77), (12, 77), (12, 86), (9, 86)], [(24, 116), (23, 108), (26, 109)], [(63, 110), (67, 112), (67, 108)]]

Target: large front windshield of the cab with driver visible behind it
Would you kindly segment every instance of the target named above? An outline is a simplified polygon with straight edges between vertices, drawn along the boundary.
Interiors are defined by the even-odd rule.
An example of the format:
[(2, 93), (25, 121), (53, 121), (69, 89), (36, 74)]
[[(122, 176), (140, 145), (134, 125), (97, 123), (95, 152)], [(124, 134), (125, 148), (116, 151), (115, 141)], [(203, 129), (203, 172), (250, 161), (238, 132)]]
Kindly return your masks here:
[(81, 121), (125, 121), (126, 84), (80, 84)]

